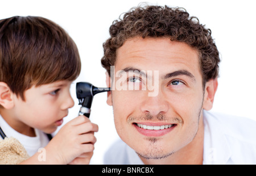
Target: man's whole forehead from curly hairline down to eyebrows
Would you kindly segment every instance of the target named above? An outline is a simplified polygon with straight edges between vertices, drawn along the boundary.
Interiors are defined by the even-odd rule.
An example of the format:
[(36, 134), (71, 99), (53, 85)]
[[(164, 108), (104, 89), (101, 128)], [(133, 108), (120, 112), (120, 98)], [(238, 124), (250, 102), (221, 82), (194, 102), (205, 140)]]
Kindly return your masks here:
[(128, 67), (161, 70), (177, 66), (200, 69), (199, 63), (197, 51), (185, 43), (167, 38), (135, 38), (118, 49), (115, 66), (119, 70)]

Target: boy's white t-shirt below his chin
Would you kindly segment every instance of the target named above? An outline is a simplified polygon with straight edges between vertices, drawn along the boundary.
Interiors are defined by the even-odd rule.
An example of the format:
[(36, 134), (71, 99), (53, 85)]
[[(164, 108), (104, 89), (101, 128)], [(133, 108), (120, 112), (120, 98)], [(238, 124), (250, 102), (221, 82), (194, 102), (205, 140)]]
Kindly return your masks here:
[[(21, 133), (16, 132), (13, 128), (10, 127), (9, 124), (6, 123), (1, 115), (0, 127), (7, 137), (14, 137), (18, 140), (27, 150), (29, 156), (33, 156), (36, 152), (38, 152), (39, 148), (42, 148), (49, 143), (47, 135), (38, 129), (35, 129), (35, 137), (22, 135)], [(1, 136), (0, 140), (3, 140)]]

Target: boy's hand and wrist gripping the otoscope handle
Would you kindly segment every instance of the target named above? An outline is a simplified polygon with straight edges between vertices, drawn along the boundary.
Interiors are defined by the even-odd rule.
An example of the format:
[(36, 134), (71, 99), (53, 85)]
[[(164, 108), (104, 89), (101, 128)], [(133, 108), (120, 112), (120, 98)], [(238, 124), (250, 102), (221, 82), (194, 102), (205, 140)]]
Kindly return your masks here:
[(97, 131), (98, 125), (85, 116), (69, 121), (46, 146), (48, 160), (56, 164), (89, 164)]

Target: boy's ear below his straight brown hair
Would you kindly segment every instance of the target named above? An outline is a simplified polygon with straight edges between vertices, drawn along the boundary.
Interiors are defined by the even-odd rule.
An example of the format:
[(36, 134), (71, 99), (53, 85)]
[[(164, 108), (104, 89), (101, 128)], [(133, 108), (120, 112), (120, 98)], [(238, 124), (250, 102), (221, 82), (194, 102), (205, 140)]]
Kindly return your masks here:
[(5, 82), (0, 82), (0, 104), (6, 109), (14, 107), (13, 92)]

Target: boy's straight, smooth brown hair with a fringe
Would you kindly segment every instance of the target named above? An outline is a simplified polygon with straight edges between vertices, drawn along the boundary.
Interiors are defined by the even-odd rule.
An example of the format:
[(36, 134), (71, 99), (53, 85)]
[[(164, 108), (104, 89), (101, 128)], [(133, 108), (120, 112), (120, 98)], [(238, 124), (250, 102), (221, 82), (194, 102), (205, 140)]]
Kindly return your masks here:
[(38, 16), (0, 20), (0, 82), (23, 100), (31, 86), (73, 81), (80, 70), (76, 44), (56, 23)]

